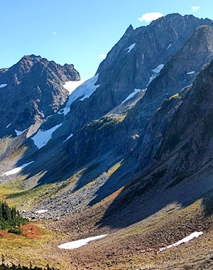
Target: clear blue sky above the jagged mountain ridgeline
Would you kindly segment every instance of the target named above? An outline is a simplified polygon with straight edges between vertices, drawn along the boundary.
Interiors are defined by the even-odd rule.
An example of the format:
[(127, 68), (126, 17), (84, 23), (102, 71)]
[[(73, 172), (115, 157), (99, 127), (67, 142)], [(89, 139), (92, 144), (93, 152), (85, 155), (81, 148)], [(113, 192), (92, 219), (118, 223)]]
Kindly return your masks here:
[(212, 8), (212, 0), (0, 0), (0, 68), (35, 54), (74, 64), (85, 80), (130, 24), (149, 23), (144, 14), (213, 19)]

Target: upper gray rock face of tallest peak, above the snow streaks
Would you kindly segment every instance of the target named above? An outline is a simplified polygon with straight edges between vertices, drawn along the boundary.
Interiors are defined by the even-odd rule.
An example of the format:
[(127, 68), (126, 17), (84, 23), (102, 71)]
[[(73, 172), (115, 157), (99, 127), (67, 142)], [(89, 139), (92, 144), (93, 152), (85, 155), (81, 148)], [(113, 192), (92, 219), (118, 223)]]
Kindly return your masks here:
[(121, 92), (126, 92), (127, 96), (134, 88), (146, 88), (152, 70), (160, 64), (165, 65), (201, 25), (213, 24), (208, 19), (175, 13), (147, 27), (133, 30), (130, 26), (99, 66), (98, 82), (114, 90), (117, 102), (121, 101)]

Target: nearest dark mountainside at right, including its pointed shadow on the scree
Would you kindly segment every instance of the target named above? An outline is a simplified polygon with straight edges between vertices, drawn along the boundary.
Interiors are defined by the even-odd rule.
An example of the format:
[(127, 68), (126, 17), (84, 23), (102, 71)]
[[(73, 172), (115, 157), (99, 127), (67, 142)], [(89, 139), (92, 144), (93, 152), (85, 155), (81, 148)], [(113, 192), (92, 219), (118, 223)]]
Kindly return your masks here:
[[(153, 134), (153, 141), (158, 140), (153, 162), (116, 197), (105, 224), (123, 227), (172, 202), (186, 206), (200, 198), (205, 198), (204, 209), (212, 214), (212, 67), (213, 61), (190, 87), (167, 99), (158, 109), (147, 131)], [(150, 141), (149, 146), (151, 149), (146, 146), (143, 150), (144, 155), (153, 151)], [(142, 158), (141, 155), (139, 161)], [(121, 216), (129, 216), (132, 207), (137, 215), (121, 220)]]

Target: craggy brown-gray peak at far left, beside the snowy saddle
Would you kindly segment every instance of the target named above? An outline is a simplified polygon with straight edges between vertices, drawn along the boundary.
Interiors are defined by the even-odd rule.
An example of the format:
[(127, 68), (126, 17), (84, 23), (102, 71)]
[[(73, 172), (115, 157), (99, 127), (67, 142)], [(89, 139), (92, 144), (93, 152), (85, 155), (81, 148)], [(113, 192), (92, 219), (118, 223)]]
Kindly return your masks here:
[(66, 102), (63, 84), (80, 80), (73, 65), (58, 65), (35, 55), (24, 56), (16, 65), (0, 70), (1, 133), (11, 127), (23, 130), (50, 116)]

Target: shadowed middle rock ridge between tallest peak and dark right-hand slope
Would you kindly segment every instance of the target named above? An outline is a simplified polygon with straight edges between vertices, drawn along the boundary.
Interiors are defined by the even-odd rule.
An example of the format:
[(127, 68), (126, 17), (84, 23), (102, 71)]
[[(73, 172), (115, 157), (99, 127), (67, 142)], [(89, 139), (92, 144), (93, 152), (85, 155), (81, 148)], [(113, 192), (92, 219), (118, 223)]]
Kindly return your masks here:
[[(114, 149), (116, 154), (136, 158), (140, 168), (151, 166), (168, 123), (189, 91), (188, 86), (195, 80), (203, 65), (213, 59), (212, 31), (212, 26), (197, 28), (151, 82), (146, 94), (131, 108), (125, 110), (120, 105), (114, 111), (116, 113), (112, 112), (107, 117), (88, 124), (70, 139), (75, 141), (70, 144), (74, 162), (75, 158), (80, 159), (82, 153), (87, 157), (81, 161), (85, 164), (107, 150)], [(200, 53), (195, 54), (195, 51)], [(75, 148), (72, 148), (72, 144), (75, 144)]]

